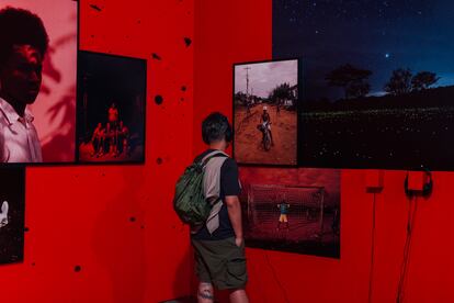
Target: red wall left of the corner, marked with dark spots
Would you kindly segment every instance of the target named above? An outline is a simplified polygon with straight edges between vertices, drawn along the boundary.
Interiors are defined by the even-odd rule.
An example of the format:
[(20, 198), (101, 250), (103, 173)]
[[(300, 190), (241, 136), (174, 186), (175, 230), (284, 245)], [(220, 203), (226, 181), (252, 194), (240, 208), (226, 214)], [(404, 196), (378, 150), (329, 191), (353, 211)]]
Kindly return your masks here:
[(80, 16), (81, 49), (148, 59), (146, 164), (27, 169), (24, 262), (0, 268), (1, 301), (186, 294), (188, 234), (171, 199), (192, 158), (193, 1), (81, 0)]

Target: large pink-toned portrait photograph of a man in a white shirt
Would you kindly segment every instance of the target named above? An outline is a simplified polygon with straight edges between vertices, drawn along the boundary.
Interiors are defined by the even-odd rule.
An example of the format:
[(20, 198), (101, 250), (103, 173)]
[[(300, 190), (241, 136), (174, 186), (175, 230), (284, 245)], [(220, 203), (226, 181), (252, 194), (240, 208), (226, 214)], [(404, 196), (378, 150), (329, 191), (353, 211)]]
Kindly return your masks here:
[(75, 160), (77, 23), (76, 1), (0, 0), (0, 164)]

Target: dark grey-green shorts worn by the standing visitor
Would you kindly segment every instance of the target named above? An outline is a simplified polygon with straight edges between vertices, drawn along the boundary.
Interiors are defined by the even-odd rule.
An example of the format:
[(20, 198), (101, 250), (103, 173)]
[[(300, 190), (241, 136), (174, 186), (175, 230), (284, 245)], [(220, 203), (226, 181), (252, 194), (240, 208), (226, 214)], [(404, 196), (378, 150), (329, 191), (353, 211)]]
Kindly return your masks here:
[(218, 290), (243, 289), (248, 281), (245, 244), (235, 238), (192, 240), (195, 270), (201, 282), (213, 283)]

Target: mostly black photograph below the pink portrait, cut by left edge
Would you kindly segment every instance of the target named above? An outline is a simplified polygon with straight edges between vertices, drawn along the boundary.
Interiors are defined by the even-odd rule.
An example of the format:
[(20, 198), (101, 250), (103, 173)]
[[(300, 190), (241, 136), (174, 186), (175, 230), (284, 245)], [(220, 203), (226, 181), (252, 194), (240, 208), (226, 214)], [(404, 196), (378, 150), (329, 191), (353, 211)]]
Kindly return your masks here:
[(0, 167), (0, 265), (23, 261), (25, 168)]

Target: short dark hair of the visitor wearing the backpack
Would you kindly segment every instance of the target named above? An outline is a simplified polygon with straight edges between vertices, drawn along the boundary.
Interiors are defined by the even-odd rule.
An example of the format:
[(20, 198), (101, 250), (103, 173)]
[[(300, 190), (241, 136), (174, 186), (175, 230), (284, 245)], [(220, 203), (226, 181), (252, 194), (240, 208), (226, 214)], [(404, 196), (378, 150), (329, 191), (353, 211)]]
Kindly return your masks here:
[(202, 123), (202, 138), (206, 144), (222, 139), (231, 142), (232, 135), (230, 123), (222, 113), (212, 113)]

